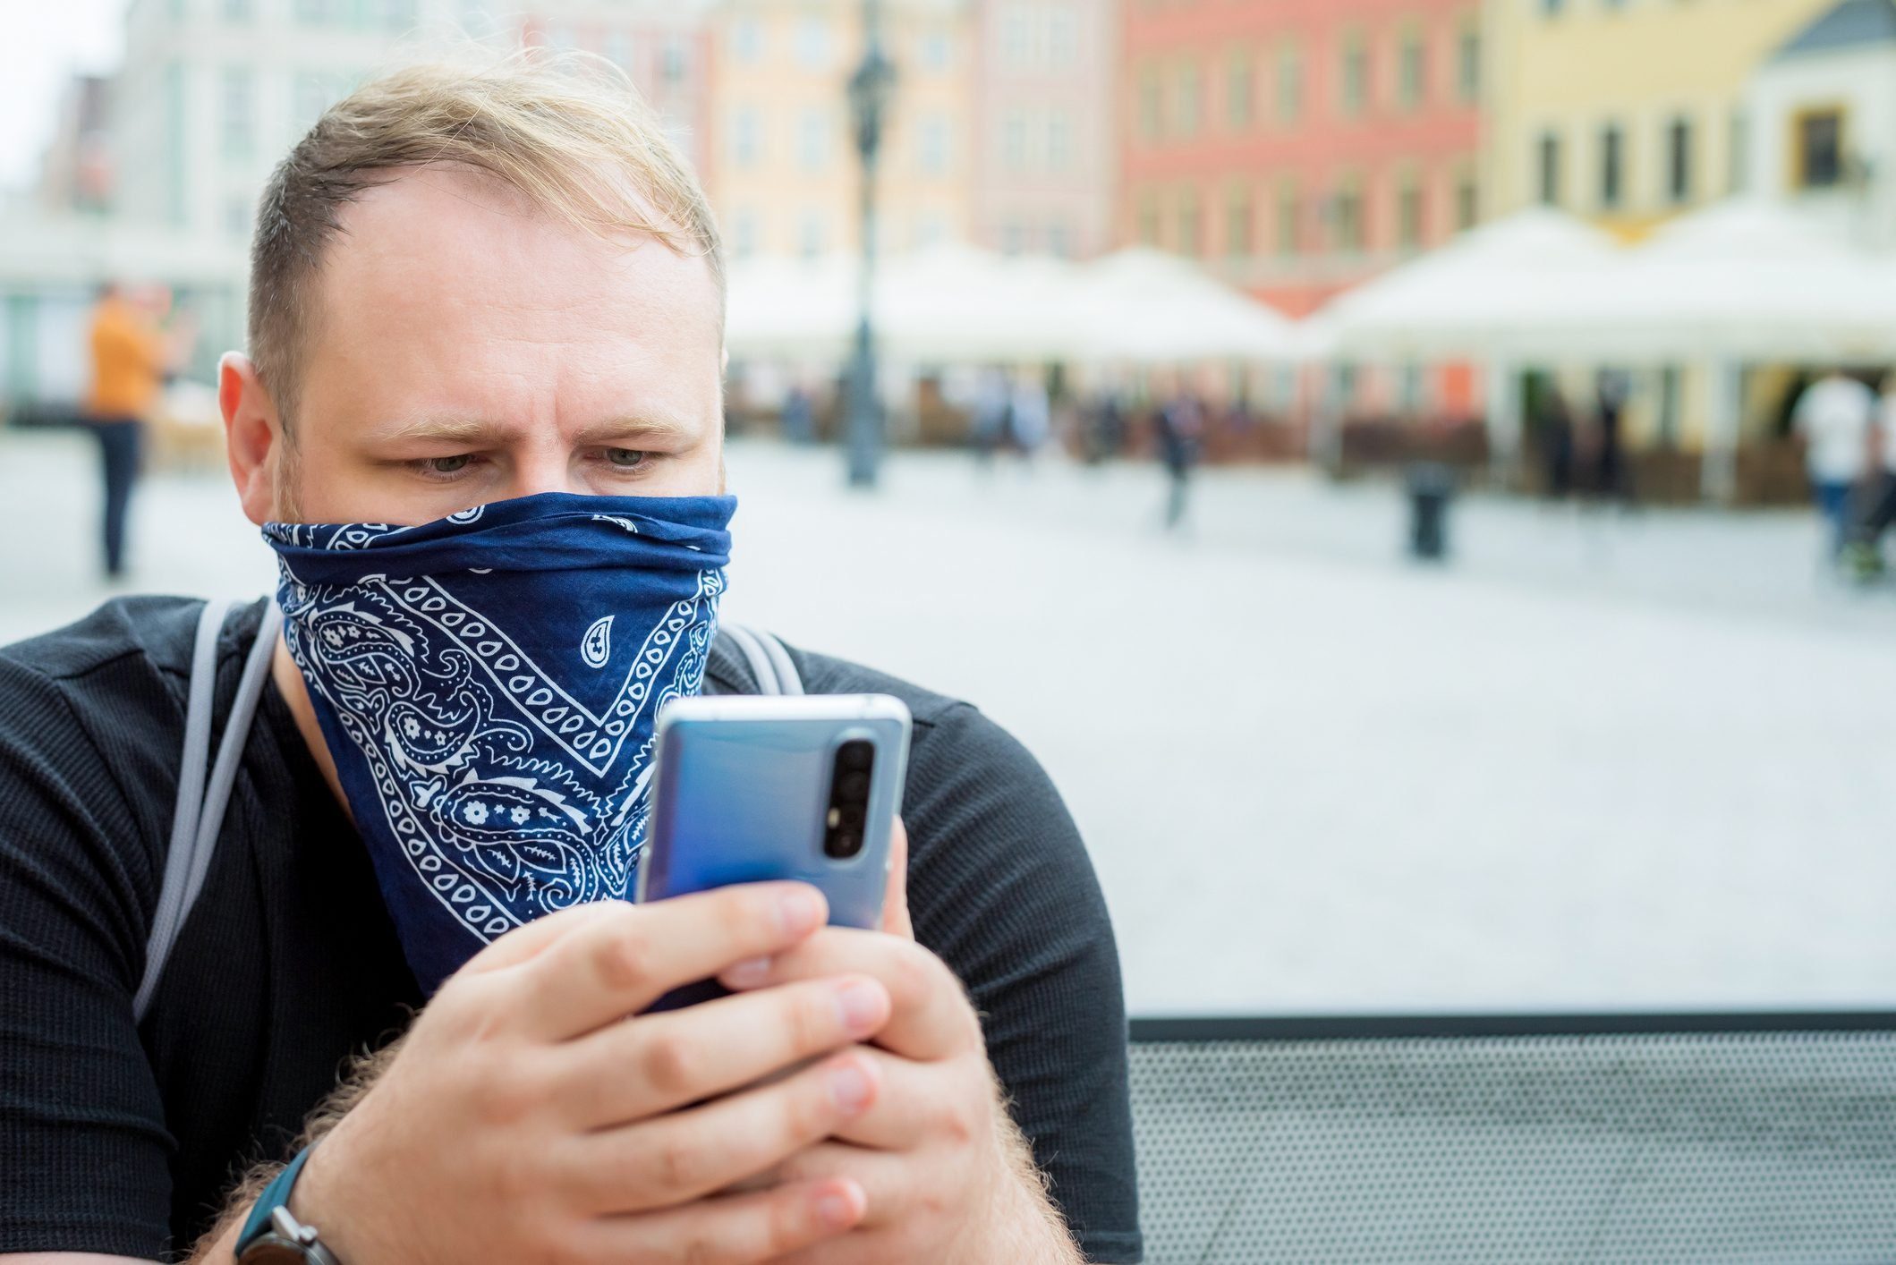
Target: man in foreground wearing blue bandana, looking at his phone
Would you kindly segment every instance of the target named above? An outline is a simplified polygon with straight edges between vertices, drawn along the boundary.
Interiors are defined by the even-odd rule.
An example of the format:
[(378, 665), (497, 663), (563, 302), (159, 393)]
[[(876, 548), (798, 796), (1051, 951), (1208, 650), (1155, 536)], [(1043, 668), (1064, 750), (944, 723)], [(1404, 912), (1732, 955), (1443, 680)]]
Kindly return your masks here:
[[(199, 607), (0, 652), (0, 1261), (229, 1265), (233, 1178), (377, 1047), (262, 1204), (328, 1257), (250, 1257), (1138, 1259), (1105, 908), (965, 704), (794, 654), (916, 717), (885, 931), (823, 927), (798, 884), (573, 895), (629, 882), (643, 797), (597, 785), (643, 785), (647, 656), (698, 687), (728, 541), (717, 231), (650, 112), (535, 61), (383, 78), (277, 169), (250, 284), (220, 402), (284, 639), (142, 1022)], [(518, 597), (447, 609), (476, 592)], [(618, 747), (556, 724), (578, 654), (567, 702), (531, 675), (593, 599)], [(226, 711), (262, 618), (216, 645)], [(734, 996), (645, 1013), (707, 977)]]

